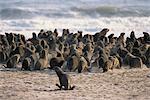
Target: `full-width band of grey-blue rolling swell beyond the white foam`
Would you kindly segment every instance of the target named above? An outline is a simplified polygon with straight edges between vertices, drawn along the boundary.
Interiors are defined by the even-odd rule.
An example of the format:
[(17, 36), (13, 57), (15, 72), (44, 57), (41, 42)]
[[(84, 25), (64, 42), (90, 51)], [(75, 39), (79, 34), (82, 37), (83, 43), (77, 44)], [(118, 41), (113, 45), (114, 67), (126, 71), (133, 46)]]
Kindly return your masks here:
[(21, 2), (20, 0), (14, 1), (15, 2), (13, 4), (3, 4), (4, 2), (0, 3), (0, 18), (2, 20), (33, 19), (39, 16), (44, 16), (47, 18), (150, 16), (150, 9), (148, 9), (150, 5), (131, 5), (130, 3), (132, 2), (129, 2), (129, 0), (127, 0), (129, 2), (127, 4), (122, 4), (123, 2), (119, 2), (119, 0), (115, 0), (115, 2), (110, 0), (94, 0), (95, 2), (92, 0), (86, 0), (89, 2), (83, 2), (83, 0), (76, 2), (73, 0), (69, 0), (69, 2), (65, 2), (65, 0), (44, 0), (40, 2), (35, 0), (27, 0), (24, 2)]

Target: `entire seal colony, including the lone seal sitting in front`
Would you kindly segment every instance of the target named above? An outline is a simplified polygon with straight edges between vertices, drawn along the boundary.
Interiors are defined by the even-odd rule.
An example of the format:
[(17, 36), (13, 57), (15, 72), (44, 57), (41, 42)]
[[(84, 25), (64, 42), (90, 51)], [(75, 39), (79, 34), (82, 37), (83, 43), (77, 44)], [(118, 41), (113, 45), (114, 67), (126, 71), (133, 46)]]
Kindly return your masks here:
[(64, 90), (75, 87), (67, 72), (92, 72), (94, 67), (107, 72), (124, 66), (141, 68), (143, 64), (150, 67), (149, 33), (136, 38), (132, 31), (125, 38), (125, 33), (106, 36), (108, 31), (104, 28), (94, 35), (83, 35), (82, 31), (70, 33), (63, 29), (62, 36), (58, 36), (57, 29), (42, 29), (29, 39), (22, 34), (0, 34), (0, 63), (6, 68), (19, 68), (21, 63), (21, 70), (55, 70), (60, 81), (56, 86)]

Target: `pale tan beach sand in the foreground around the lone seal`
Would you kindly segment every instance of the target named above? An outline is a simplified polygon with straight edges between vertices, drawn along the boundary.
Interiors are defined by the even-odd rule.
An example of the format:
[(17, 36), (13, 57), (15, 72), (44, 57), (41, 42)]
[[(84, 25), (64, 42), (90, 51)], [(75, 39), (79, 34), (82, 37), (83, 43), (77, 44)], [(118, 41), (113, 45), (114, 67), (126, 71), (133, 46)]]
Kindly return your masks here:
[(55, 72), (0, 71), (0, 100), (150, 100), (150, 69), (69, 73), (74, 90), (57, 90)]

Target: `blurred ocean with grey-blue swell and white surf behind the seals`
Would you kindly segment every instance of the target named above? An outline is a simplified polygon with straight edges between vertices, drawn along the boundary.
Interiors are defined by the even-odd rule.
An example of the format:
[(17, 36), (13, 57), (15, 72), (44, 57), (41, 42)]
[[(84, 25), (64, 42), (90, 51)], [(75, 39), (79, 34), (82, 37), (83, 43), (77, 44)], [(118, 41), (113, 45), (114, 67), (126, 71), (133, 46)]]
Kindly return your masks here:
[(150, 0), (0, 0), (0, 34), (16, 32), (31, 37), (40, 29), (82, 30), (94, 34), (109, 28), (108, 34), (129, 36), (150, 32)]

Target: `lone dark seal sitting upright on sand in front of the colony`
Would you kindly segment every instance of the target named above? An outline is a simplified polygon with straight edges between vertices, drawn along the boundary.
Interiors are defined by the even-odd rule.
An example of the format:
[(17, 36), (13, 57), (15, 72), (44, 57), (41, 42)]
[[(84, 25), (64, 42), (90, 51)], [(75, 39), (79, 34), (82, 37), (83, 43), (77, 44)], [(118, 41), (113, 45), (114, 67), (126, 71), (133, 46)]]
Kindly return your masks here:
[(59, 78), (59, 84), (56, 84), (60, 90), (73, 90), (75, 86), (71, 86), (71, 77), (67, 75), (60, 67), (55, 66), (54, 70)]

